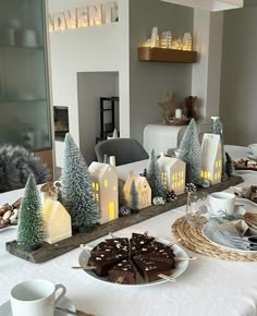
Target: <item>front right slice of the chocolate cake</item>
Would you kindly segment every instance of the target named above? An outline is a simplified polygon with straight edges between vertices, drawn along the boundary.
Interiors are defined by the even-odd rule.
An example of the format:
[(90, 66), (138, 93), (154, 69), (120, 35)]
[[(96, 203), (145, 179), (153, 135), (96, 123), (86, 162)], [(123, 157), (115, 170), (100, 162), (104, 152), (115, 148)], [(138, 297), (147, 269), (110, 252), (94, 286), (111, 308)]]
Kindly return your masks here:
[(138, 272), (147, 282), (158, 280), (159, 274), (170, 276), (173, 271), (171, 264), (157, 262), (143, 256), (134, 257), (133, 262), (136, 265)]

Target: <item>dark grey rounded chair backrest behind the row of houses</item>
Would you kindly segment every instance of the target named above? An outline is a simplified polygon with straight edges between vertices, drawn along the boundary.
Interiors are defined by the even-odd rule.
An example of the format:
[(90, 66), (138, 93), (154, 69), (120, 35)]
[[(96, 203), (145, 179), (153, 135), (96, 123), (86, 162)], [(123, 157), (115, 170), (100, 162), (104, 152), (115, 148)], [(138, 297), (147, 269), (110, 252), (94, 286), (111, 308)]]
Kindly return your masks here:
[(95, 146), (95, 151), (99, 162), (103, 162), (105, 155), (115, 156), (117, 166), (149, 158), (140, 143), (132, 138), (112, 138), (99, 142)]

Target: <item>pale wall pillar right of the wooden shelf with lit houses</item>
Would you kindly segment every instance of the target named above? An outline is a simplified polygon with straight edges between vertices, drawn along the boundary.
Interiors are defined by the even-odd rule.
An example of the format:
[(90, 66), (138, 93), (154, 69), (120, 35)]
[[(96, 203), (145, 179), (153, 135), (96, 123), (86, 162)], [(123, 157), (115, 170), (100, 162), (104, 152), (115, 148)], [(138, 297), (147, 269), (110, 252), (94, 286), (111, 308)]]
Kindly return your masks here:
[(192, 95), (200, 99), (200, 114), (219, 116), (222, 56), (223, 12), (194, 10), (194, 49), (198, 52), (193, 65)]

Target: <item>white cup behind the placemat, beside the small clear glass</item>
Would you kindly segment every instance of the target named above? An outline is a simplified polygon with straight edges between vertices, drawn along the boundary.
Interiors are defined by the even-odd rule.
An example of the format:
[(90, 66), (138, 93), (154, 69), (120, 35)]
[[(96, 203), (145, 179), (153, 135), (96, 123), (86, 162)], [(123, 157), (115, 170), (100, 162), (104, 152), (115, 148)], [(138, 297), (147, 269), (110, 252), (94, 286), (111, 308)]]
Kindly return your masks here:
[(213, 192), (209, 194), (209, 209), (212, 215), (234, 212), (235, 195), (228, 192)]

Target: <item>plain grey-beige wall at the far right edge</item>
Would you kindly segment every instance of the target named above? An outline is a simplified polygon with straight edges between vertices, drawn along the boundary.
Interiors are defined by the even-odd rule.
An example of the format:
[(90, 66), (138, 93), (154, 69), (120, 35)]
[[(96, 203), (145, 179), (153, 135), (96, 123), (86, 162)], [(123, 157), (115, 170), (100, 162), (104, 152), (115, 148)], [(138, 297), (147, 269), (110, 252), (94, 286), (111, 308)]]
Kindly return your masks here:
[(220, 112), (227, 144), (257, 143), (256, 21), (257, 7), (224, 13)]

